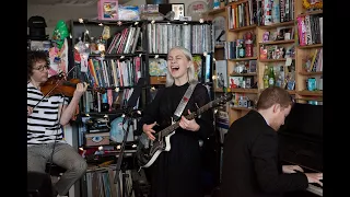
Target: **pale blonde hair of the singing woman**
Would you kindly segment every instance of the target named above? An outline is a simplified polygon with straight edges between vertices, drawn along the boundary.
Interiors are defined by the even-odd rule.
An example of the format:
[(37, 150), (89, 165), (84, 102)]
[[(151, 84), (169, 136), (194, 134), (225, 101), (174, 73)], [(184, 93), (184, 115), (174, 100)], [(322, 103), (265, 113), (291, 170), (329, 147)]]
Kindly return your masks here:
[[(187, 69), (187, 78), (189, 83), (195, 83), (198, 81), (196, 79), (196, 73), (195, 73), (195, 66), (194, 66), (194, 57), (190, 54), (189, 50), (187, 50), (185, 47), (182, 46), (175, 46), (168, 50), (168, 54), (174, 50), (174, 49), (179, 49), (182, 53), (185, 55), (188, 61), (190, 61), (189, 67)], [(168, 69), (166, 69), (166, 83), (165, 86), (172, 86), (174, 83), (175, 79), (172, 77), (172, 74), (168, 72)]]

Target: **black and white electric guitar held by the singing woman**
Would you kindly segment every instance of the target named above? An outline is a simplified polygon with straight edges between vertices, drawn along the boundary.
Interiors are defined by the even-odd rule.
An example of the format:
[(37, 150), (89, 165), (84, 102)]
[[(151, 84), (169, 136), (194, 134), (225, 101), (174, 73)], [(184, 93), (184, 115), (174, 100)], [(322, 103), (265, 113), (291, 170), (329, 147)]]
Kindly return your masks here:
[[(207, 103), (202, 107), (198, 108), (196, 112), (192, 112), (185, 117), (186, 119), (194, 119), (200, 116), (200, 114), (208, 111), (209, 108), (225, 104), (230, 100), (232, 100), (231, 93), (222, 95), (221, 97)], [(139, 137), (139, 144), (136, 152), (137, 161), (140, 167), (151, 166), (163, 151), (171, 150), (171, 137), (175, 134), (175, 130), (178, 127), (179, 120), (156, 132), (154, 135), (154, 141), (150, 140), (148, 136), (144, 132), (142, 132), (142, 135)]]

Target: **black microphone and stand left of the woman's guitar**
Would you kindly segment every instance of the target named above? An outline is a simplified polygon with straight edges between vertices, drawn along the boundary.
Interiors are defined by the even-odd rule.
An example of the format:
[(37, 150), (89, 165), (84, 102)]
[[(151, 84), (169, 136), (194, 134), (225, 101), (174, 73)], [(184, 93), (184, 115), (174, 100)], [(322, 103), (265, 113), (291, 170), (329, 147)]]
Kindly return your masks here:
[[(127, 192), (127, 187), (126, 187), (126, 167), (121, 169), (121, 163), (122, 163), (122, 159), (124, 159), (125, 143), (127, 142), (128, 135), (129, 135), (129, 128), (130, 128), (130, 126), (133, 126), (131, 118), (132, 118), (131, 112), (127, 111), (127, 113), (122, 119), (122, 124), (121, 124), (122, 129), (124, 129), (125, 121), (127, 121), (128, 125), (127, 125), (127, 130), (124, 129), (125, 136), (124, 136), (122, 142), (121, 142), (120, 153), (118, 154), (116, 175), (115, 175), (115, 179), (114, 179), (114, 183), (118, 184), (118, 189), (119, 189), (118, 195), (117, 195), (118, 197), (128, 197), (129, 196), (128, 192)], [(121, 173), (121, 179), (119, 177), (119, 173)], [(122, 188), (121, 188), (121, 184), (122, 184)]]

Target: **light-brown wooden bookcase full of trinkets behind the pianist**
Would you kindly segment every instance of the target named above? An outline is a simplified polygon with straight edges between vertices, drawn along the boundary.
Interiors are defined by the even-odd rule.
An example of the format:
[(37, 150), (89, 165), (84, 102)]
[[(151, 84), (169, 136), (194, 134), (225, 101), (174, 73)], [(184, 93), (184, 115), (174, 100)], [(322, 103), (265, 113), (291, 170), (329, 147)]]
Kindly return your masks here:
[[(238, 93), (238, 95), (247, 96), (250, 101), (256, 102), (259, 93), (264, 90), (264, 71), (265, 67), (273, 67), (273, 71), (277, 74), (278, 70), (283, 70), (284, 79), (285, 77), (291, 77), (294, 79), (294, 85), (291, 85), (289, 90), (290, 94), (300, 103), (308, 104), (320, 104), (323, 101), (323, 91), (322, 91), (322, 24), (319, 24), (319, 18), (323, 16), (322, 10), (308, 11), (303, 7), (303, 0), (283, 0), (283, 1), (272, 1), (277, 3), (287, 2), (290, 3), (290, 14), (283, 15), (283, 21), (281, 22), (281, 12), (279, 12), (280, 19), (272, 19), (273, 11), (271, 11), (271, 21), (262, 21), (261, 14), (266, 14), (265, 3), (266, 0), (238, 0), (234, 2), (228, 2), (224, 7), (221, 7), (217, 10), (210, 10), (207, 12), (209, 19), (214, 19), (217, 16), (224, 16), (226, 20), (225, 23), (225, 38), (226, 42), (233, 42), (236, 39), (242, 39), (246, 32), (253, 32), (255, 34), (255, 39), (253, 42), (253, 57), (243, 57), (243, 58), (225, 58), (224, 54), (228, 50), (228, 47), (215, 47), (214, 57), (215, 59), (228, 59), (228, 80), (230, 81), (231, 77), (248, 77), (253, 76), (257, 82), (257, 89), (242, 89), (242, 88), (232, 88), (230, 84), (226, 90), (215, 89), (215, 95), (220, 95), (223, 92), (232, 92), (233, 94)], [(271, 2), (271, 1), (270, 1)], [(252, 7), (253, 5), (253, 7)], [(257, 8), (261, 8), (261, 12), (257, 12), (257, 18), (250, 20), (250, 8), (255, 11)], [(273, 8), (273, 7), (272, 7)], [(281, 9), (281, 7), (280, 7)], [(234, 11), (233, 11), (234, 10)], [(244, 13), (244, 18), (240, 19), (240, 14), (233, 16), (232, 13), (240, 12)], [(247, 12), (244, 12), (247, 11)], [(284, 10), (285, 11), (285, 10)], [(259, 14), (260, 13), (260, 14)], [(237, 18), (238, 16), (238, 18)], [(242, 16), (242, 15), (241, 15)], [(301, 40), (301, 32), (299, 30), (300, 24), (305, 24), (305, 18), (308, 18), (310, 30), (305, 33), (308, 36), (310, 43), (306, 40)], [(235, 19), (235, 21), (233, 21)], [(242, 20), (243, 19), (243, 20)], [(266, 18), (268, 19), (268, 18)], [(276, 19), (276, 21), (273, 21)], [(301, 21), (302, 19), (302, 21)], [(230, 25), (231, 22), (231, 25)], [(306, 22), (306, 25), (307, 25)], [(233, 23), (233, 24), (232, 24)], [(320, 27), (319, 27), (320, 26)], [(307, 26), (306, 26), (307, 27)], [(290, 31), (291, 30), (291, 31)], [(264, 39), (266, 32), (269, 32), (268, 39)], [(283, 32), (281, 37), (280, 33)], [(289, 35), (285, 36), (285, 33)], [(319, 35), (320, 34), (320, 35)], [(313, 38), (310, 38), (313, 37)], [(273, 38), (276, 37), (276, 38)], [(264, 54), (270, 51), (272, 48), (283, 48), (283, 55), (278, 57), (275, 50), (275, 57), (271, 55)], [(266, 49), (264, 51), (264, 49)], [(290, 50), (289, 55), (285, 56), (287, 50)], [(269, 57), (270, 56), (270, 57)], [(277, 56), (277, 57), (276, 57)], [(257, 71), (256, 73), (237, 73), (235, 72), (235, 67), (238, 62), (257, 60)], [(306, 62), (312, 66), (307, 66)], [(305, 66), (306, 65), (306, 66)], [(283, 69), (282, 69), (282, 68)], [(312, 69), (315, 67), (314, 69)], [(310, 69), (311, 68), (311, 69)], [(307, 85), (308, 79), (316, 81), (316, 86), (311, 88)], [(292, 81), (292, 80), (290, 80)], [(287, 83), (292, 84), (292, 83)], [(284, 86), (284, 85), (283, 85)], [(237, 118), (244, 116), (250, 108), (242, 107), (235, 105), (236, 103), (232, 102), (223, 111), (226, 111), (230, 116), (230, 125)], [(232, 105), (233, 104), (233, 105)], [(253, 107), (254, 108), (254, 107)]]

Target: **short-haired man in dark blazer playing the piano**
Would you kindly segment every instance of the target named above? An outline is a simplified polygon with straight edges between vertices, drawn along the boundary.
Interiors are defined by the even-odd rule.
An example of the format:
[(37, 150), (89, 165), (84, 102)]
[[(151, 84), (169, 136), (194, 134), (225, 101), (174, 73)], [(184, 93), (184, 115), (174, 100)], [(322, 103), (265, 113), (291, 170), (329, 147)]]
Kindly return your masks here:
[(323, 185), (323, 173), (305, 173), (298, 165), (281, 166), (277, 130), (292, 106), (290, 94), (278, 86), (265, 89), (257, 111), (235, 120), (223, 144), (221, 197), (277, 197)]

